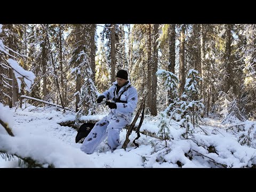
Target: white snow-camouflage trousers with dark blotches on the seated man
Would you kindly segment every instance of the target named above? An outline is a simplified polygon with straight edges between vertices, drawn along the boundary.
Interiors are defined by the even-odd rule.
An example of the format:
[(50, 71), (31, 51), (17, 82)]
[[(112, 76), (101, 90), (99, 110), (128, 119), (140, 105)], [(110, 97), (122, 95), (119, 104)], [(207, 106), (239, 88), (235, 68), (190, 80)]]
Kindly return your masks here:
[(119, 146), (120, 131), (128, 124), (124, 117), (103, 117), (84, 139), (81, 150), (86, 154), (92, 154), (95, 148), (108, 137), (108, 146), (111, 151), (114, 151)]

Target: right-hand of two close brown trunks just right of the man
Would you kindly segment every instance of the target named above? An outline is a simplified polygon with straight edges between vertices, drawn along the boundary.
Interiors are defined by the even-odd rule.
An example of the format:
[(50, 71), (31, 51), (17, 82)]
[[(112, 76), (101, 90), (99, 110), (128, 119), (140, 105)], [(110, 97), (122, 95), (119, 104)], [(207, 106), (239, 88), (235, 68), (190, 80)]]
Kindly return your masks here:
[(157, 71), (157, 62), (158, 62), (158, 49), (157, 49), (157, 42), (156, 39), (158, 38), (158, 27), (159, 24), (154, 25), (154, 47), (153, 47), (153, 70), (152, 70), (152, 106), (150, 114), (156, 116), (157, 115), (157, 108), (156, 108), (156, 87), (157, 87), (157, 78), (156, 78), (156, 71)]

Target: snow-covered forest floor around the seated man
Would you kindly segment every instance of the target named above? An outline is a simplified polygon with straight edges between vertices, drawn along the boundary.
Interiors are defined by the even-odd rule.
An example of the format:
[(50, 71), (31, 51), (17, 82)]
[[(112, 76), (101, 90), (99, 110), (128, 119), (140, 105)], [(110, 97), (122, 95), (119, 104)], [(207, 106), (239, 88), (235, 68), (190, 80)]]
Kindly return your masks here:
[[(36, 108), (27, 104), (25, 109), (17, 108), (16, 111), (15, 108), (2, 106), (0, 113), (12, 116), (10, 118), (13, 119), (12, 131), (15, 136), (11, 137), (0, 125), (0, 148), (22, 157), (33, 157), (45, 167), (48, 163), (55, 167), (102, 168), (251, 167), (256, 164), (256, 149), (238, 142), (242, 132), (227, 130), (230, 125), (221, 125), (221, 119), (216, 117), (204, 118), (200, 123), (201, 128), (197, 127), (190, 139), (182, 139), (181, 135), (186, 130), (173, 122), (169, 126), (169, 135), (172, 138), (170, 141), (141, 134), (137, 140), (139, 148), (135, 148), (132, 141), (137, 134), (133, 132), (126, 150), (122, 149), (126, 137), (126, 130), (123, 129), (120, 134), (121, 145), (113, 153), (105, 139), (93, 154), (87, 155), (80, 150), (82, 144), (75, 143), (77, 131), (58, 124), (75, 118), (74, 113), (70, 111), (62, 114), (56, 107)], [(93, 118), (102, 117), (97, 115)], [(146, 116), (140, 130), (157, 134), (160, 119), (159, 116)], [(249, 124), (253, 127), (253, 123), (256, 122), (247, 121), (248, 127)], [(255, 129), (252, 130), (255, 132)], [(209, 150), (211, 147), (213, 151)], [(6, 157), (4, 154), (1, 156)], [(11, 161), (0, 158), (0, 167), (23, 165), (19, 165), (17, 157)]]

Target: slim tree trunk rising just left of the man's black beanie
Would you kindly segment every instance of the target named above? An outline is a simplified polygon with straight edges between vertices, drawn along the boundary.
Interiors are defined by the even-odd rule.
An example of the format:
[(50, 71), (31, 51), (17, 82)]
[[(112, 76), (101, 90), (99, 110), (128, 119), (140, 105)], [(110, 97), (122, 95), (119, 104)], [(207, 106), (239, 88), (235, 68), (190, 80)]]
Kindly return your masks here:
[(111, 25), (111, 82), (116, 78), (116, 49), (115, 49), (115, 24)]

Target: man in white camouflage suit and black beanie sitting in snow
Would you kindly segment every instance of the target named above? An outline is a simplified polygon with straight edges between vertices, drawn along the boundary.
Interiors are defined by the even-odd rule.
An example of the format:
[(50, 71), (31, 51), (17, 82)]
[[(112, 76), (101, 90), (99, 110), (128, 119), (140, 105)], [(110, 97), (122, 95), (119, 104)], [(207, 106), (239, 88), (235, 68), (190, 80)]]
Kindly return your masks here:
[(120, 131), (132, 122), (133, 111), (138, 102), (138, 93), (128, 81), (126, 70), (117, 72), (116, 82), (109, 90), (99, 95), (97, 102), (101, 103), (104, 98), (112, 100), (112, 102), (106, 102), (110, 108), (110, 113), (96, 123), (85, 138), (81, 150), (86, 154), (92, 154), (106, 137), (108, 137), (108, 146), (111, 151), (114, 151), (119, 146)]

